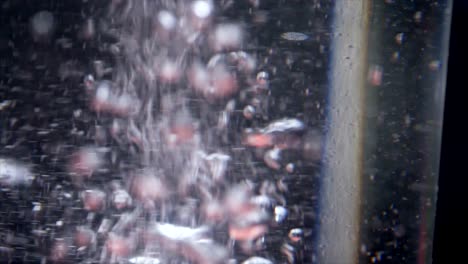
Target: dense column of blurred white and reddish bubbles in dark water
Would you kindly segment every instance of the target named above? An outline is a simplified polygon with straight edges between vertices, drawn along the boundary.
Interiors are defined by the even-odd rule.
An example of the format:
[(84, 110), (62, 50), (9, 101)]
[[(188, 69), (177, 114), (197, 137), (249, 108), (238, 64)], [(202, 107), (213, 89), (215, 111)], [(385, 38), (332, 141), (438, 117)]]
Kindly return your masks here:
[[(85, 21), (80, 36), (100, 32), (110, 54), (83, 81), (99, 126), (95, 143), (68, 159), (73, 192), (55, 186), (54, 196), (79, 200), (84, 218), (54, 234), (46, 259), (301, 263), (306, 234), (284, 226), (285, 177), (318, 165), (322, 136), (295, 116), (270, 119), (271, 74), (220, 2), (113, 0), (99, 23)], [(47, 39), (54, 17), (37, 13), (31, 30)], [(30, 185), (33, 175), (0, 159), (3, 186)], [(268, 240), (284, 228), (280, 243)]]

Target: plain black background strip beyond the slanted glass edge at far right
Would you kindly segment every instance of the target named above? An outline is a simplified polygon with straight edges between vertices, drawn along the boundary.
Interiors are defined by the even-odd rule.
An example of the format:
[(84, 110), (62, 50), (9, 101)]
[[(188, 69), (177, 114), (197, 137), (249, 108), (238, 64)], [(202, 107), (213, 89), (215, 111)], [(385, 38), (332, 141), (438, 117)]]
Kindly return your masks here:
[(468, 1), (454, 0), (433, 263), (463, 263), (467, 251), (467, 18)]

